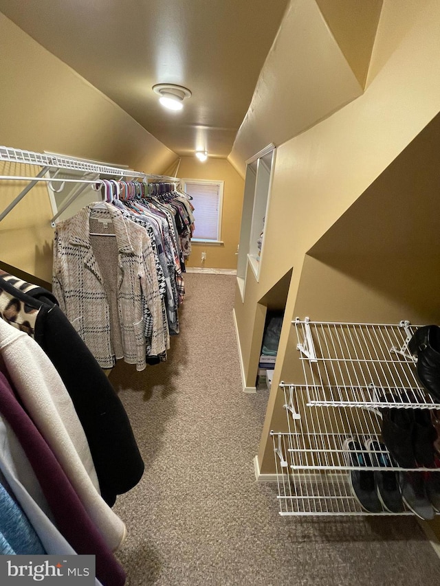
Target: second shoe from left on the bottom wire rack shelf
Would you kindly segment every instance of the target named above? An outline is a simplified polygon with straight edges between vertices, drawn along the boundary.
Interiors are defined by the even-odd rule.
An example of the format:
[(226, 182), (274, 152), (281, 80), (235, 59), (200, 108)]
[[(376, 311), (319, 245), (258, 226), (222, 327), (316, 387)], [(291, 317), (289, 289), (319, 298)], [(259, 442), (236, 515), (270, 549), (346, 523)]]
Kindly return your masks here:
[(387, 468), (393, 468), (390, 455), (386, 451), (385, 444), (370, 438), (365, 442), (366, 449), (370, 452), (370, 460), (373, 466), (380, 466), (384, 471), (374, 471), (374, 480), (377, 496), (385, 510), (389, 512), (402, 512), (404, 504), (401, 500), (399, 475)]

